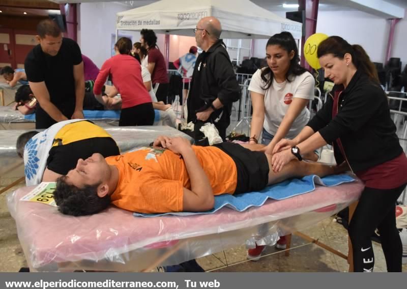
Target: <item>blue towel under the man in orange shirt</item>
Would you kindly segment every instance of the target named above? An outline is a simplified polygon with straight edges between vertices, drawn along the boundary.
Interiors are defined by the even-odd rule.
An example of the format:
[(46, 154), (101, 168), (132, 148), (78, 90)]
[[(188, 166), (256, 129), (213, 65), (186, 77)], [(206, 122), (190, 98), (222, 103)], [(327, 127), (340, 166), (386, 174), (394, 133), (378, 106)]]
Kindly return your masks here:
[(264, 188), (259, 192), (242, 193), (237, 195), (217, 195), (215, 196), (215, 206), (212, 210), (206, 212), (177, 212), (164, 214), (140, 214), (134, 213), (134, 216), (141, 217), (156, 217), (162, 215), (189, 216), (196, 214), (213, 214), (223, 207), (228, 207), (236, 211), (242, 212), (250, 207), (262, 206), (268, 198), (281, 200), (296, 195), (312, 192), (315, 190), (315, 184), (325, 187), (338, 186), (343, 183), (353, 182), (355, 179), (349, 175), (334, 175), (324, 178), (311, 175), (302, 179), (287, 180)]

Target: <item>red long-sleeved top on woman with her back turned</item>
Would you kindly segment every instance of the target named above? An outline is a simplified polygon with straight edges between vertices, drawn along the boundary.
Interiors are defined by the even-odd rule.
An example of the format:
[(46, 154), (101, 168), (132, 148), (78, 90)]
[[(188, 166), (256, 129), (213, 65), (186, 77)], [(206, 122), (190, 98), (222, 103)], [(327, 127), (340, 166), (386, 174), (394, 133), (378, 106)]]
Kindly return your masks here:
[(109, 74), (122, 97), (122, 109), (151, 102), (150, 94), (141, 78), (141, 66), (133, 56), (118, 54), (106, 60), (96, 78), (94, 94), (102, 93), (103, 84)]

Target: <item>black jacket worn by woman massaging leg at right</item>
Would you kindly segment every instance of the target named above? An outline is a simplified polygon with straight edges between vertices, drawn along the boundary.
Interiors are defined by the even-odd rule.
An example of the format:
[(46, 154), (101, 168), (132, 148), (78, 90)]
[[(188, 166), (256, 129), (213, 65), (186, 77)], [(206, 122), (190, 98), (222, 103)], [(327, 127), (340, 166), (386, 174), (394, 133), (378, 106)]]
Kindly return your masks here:
[[(335, 85), (327, 102), (307, 126), (333, 144), (337, 163), (347, 160), (353, 171), (365, 170), (392, 160), (403, 150), (390, 118), (388, 99), (381, 86), (357, 71), (338, 99), (338, 113), (332, 119)], [(336, 139), (339, 138), (345, 156)]]

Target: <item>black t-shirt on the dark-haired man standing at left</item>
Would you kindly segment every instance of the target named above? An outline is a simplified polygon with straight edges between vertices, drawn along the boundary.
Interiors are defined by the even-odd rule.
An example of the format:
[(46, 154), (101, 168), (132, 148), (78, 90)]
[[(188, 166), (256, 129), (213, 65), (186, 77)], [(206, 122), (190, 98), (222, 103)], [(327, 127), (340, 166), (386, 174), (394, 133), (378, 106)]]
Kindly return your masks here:
[(79, 45), (72, 39), (63, 38), (55, 56), (44, 53), (39, 44), (35, 46), (25, 57), (24, 68), (28, 81), (45, 81), (50, 101), (60, 108), (63, 103), (75, 104), (73, 66), (81, 62)]

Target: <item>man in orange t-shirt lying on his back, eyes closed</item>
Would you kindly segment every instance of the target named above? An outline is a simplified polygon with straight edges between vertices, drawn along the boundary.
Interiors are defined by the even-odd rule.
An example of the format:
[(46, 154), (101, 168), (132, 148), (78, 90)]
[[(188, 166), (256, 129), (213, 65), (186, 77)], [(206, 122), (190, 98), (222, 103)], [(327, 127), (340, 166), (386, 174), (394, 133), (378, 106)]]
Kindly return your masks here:
[(57, 180), (54, 199), (59, 210), (81, 216), (113, 205), (139, 213), (207, 211), (214, 195), (261, 190), (289, 178), (338, 174), (346, 167), (293, 160), (278, 173), (271, 155), (252, 151), (261, 145), (223, 142), (191, 146), (181, 137), (160, 136), (154, 147), (112, 156), (78, 160), (76, 168)]

